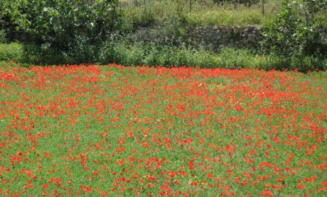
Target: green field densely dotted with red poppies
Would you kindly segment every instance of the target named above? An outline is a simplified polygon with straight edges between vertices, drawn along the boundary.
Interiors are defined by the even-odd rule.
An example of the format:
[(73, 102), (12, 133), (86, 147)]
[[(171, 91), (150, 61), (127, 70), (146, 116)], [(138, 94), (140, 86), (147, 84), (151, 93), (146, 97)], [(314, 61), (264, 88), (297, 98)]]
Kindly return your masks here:
[(0, 65), (0, 196), (327, 196), (326, 72)]

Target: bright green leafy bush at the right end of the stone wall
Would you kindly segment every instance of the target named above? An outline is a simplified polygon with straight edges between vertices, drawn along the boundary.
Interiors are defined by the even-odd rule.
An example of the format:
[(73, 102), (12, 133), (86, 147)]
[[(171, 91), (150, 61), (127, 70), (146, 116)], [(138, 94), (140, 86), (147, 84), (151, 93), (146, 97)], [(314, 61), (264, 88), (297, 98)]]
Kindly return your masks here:
[(265, 27), (263, 47), (289, 57), (327, 52), (327, 42), (316, 17), (326, 9), (326, 1), (283, 1), (282, 11)]

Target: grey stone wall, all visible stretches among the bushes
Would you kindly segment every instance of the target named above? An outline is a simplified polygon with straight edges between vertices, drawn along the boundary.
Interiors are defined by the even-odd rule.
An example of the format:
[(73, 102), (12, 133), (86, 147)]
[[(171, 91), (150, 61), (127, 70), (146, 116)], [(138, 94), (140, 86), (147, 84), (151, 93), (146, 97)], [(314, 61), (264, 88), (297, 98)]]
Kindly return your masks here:
[[(206, 49), (218, 51), (220, 47), (234, 47), (234, 48), (259, 48), (259, 42), (264, 39), (260, 33), (261, 28), (255, 26), (241, 27), (227, 27), (227, 26), (209, 26), (209, 27), (188, 27), (188, 38), (191, 43), (186, 40), (178, 39), (176, 45), (185, 42), (195, 47), (205, 47)], [(161, 40), (166, 43), (165, 38), (168, 39), (167, 33), (161, 29), (154, 27), (139, 28), (135, 30), (132, 37), (135, 40), (143, 40), (146, 42)], [(173, 38), (174, 39), (174, 38)], [(23, 32), (14, 32), (10, 35), (10, 40), (26, 41), (27, 36)]]

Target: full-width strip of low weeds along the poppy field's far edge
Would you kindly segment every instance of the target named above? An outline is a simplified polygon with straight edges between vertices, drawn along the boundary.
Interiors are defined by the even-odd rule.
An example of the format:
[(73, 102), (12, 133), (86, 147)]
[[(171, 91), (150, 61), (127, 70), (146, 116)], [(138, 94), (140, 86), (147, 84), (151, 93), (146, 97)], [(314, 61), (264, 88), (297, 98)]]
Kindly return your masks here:
[[(19, 43), (1, 44), (0, 60), (18, 60), (20, 64), (69, 64), (91, 57), (78, 56), (78, 50), (87, 50), (76, 47), (74, 51), (64, 53), (50, 47), (48, 44), (21, 45)], [(97, 49), (90, 50), (93, 62), (108, 64), (149, 65), (149, 66), (176, 66), (176, 67), (206, 67), (225, 69), (297, 69), (306, 72), (309, 69), (327, 69), (327, 58), (305, 56), (297, 54), (292, 57), (281, 55), (257, 55), (250, 50), (235, 50), (223, 48), (219, 53), (209, 52), (203, 48), (198, 50), (182, 45), (181, 47), (157, 45), (156, 43), (114, 40), (104, 43)], [(99, 54), (97, 54), (97, 52)], [(80, 54), (84, 52), (81, 51)], [(75, 54), (76, 56), (72, 56)], [(80, 61), (82, 62), (82, 61)], [(87, 62), (85, 62), (87, 63)]]

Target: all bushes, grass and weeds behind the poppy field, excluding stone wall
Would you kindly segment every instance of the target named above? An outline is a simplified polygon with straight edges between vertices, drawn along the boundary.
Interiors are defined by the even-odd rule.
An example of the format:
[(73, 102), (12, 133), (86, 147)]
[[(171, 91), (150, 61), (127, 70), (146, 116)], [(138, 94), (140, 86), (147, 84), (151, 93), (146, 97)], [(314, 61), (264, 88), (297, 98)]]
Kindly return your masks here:
[[(326, 1), (320, 0), (284, 0), (282, 4), (273, 0), (4, 0), (0, 58), (33, 64), (326, 69), (324, 10)], [(259, 50), (195, 50), (187, 41), (186, 27), (214, 24), (262, 26), (266, 40)], [(150, 31), (138, 35), (139, 28)], [(9, 44), (17, 33), (24, 33), (26, 40)]]

